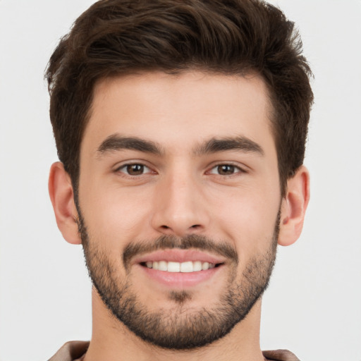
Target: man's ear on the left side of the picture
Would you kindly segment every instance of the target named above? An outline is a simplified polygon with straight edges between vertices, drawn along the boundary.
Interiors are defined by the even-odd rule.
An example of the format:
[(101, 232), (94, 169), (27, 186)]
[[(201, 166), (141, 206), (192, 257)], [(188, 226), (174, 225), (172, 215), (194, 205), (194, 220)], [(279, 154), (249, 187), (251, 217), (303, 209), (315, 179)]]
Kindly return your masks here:
[(56, 224), (63, 238), (65, 238), (68, 243), (74, 245), (81, 244), (73, 185), (71, 184), (70, 176), (60, 161), (54, 163), (50, 169), (49, 195), (54, 208)]

